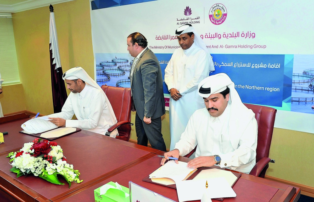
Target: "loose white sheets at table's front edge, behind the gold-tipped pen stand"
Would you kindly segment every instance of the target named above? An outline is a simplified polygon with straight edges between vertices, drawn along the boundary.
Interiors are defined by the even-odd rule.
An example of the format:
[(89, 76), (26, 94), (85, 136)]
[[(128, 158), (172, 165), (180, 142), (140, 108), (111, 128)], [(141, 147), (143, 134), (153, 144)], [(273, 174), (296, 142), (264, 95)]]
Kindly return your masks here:
[[(208, 188), (206, 188), (206, 181)], [(179, 202), (200, 200), (203, 194), (206, 194), (211, 199), (236, 197), (236, 193), (225, 178), (179, 181), (176, 182), (176, 190)]]

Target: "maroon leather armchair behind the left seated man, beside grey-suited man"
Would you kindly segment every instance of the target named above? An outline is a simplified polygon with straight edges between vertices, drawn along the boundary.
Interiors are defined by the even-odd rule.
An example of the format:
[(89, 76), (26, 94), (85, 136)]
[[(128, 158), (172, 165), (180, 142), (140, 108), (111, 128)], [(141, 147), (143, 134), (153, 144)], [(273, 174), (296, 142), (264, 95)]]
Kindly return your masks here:
[(133, 125), (133, 123), (131, 123), (131, 88), (108, 85), (102, 85), (101, 88), (106, 93), (118, 121), (108, 129), (106, 135), (109, 136), (110, 133), (117, 128), (119, 136), (116, 136), (116, 139), (129, 141), (131, 125)]

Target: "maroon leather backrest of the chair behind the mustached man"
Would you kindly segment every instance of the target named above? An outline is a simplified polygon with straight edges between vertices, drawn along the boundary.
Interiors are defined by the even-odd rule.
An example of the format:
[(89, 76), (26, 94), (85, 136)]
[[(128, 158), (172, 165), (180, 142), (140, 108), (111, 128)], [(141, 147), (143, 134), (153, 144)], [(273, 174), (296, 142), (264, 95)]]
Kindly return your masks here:
[(255, 113), (258, 125), (256, 162), (263, 157), (269, 157), (270, 143), (273, 137), (273, 127), (277, 110), (267, 106), (244, 104)]

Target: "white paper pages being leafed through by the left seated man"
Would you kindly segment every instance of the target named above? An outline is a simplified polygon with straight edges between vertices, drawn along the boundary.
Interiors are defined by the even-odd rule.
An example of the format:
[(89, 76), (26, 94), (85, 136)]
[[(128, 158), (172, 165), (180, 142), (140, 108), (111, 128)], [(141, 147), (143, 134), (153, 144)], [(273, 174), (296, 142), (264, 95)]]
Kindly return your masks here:
[(39, 118), (33, 118), (21, 125), (24, 131), (28, 133), (41, 133), (57, 128), (57, 126), (49, 121)]

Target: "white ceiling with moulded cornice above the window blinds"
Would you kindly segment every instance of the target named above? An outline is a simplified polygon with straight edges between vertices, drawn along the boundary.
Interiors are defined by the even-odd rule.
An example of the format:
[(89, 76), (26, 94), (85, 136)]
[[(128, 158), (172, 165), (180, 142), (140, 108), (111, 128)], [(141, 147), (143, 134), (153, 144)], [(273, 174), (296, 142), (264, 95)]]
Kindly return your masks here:
[(0, 12), (17, 13), (73, 0), (0, 0)]

